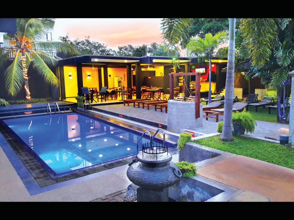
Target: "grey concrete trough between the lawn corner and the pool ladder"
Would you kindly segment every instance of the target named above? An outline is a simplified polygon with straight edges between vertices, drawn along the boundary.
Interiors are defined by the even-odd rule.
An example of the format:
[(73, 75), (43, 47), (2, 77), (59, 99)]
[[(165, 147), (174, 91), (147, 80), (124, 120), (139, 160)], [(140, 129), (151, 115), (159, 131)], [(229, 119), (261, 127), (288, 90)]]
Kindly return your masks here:
[(179, 162), (187, 161), (189, 163), (196, 163), (220, 155), (210, 149), (196, 143), (188, 142), (185, 144), (185, 148), (178, 150)]

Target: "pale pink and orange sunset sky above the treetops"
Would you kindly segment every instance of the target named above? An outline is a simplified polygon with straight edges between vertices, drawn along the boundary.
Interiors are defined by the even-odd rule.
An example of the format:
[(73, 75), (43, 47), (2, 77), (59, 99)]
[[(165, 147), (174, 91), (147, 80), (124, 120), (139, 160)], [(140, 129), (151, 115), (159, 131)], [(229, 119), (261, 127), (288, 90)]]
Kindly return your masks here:
[[(138, 46), (152, 42), (161, 43), (162, 18), (57, 18), (53, 38), (69, 33), (71, 40), (90, 35), (91, 40), (107, 44), (117, 50), (118, 46)], [(184, 52), (183, 52), (184, 54)]]

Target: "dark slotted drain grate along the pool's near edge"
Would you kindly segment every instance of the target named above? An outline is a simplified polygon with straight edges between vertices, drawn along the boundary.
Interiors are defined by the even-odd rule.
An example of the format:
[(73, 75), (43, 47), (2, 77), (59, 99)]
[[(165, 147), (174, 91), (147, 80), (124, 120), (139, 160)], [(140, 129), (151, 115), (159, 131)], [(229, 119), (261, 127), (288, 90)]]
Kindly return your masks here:
[(76, 178), (79, 178), (79, 177), (87, 176), (89, 174), (93, 174), (93, 173), (101, 172), (101, 171), (104, 171), (104, 170), (109, 170), (109, 169), (112, 169), (112, 168), (115, 168), (115, 167), (119, 167), (119, 166), (122, 166), (122, 165), (126, 165), (126, 164), (131, 163), (132, 161), (133, 161), (133, 158), (126, 158), (124, 160), (119, 160), (119, 161), (116, 161), (116, 162), (113, 162), (113, 163), (108, 163), (108, 164), (98, 166), (98, 167), (94, 167), (94, 168), (91, 168), (91, 169), (88, 169), (88, 170), (83, 170), (83, 171), (80, 171), (80, 172), (71, 173), (71, 174), (68, 174), (68, 175), (65, 175), (65, 176), (62, 176), (62, 177), (56, 177), (54, 179), (43, 180), (43, 181), (38, 182), (38, 184), (39, 184), (40, 187), (50, 186), (50, 185), (54, 185), (56, 183), (65, 182), (65, 181), (68, 181), (68, 180), (73, 180), (73, 179), (76, 179)]

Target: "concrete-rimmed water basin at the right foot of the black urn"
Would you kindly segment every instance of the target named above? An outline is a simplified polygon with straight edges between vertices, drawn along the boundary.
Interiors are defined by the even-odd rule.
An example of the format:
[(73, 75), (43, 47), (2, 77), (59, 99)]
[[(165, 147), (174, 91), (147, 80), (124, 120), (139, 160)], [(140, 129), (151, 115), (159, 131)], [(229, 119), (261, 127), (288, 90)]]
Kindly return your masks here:
[(181, 177), (180, 182), (168, 188), (168, 195), (176, 202), (222, 202), (236, 189), (218, 182), (195, 176)]

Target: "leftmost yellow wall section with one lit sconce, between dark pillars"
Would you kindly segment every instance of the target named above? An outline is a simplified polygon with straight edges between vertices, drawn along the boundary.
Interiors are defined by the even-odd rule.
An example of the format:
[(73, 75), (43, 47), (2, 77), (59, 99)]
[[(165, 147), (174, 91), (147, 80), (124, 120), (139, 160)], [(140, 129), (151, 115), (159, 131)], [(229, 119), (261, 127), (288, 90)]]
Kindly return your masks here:
[[(76, 97), (78, 95), (78, 79), (76, 74), (76, 67), (64, 66), (63, 68), (64, 68), (65, 96)], [(69, 79), (69, 72), (71, 72), (72, 79)]]

